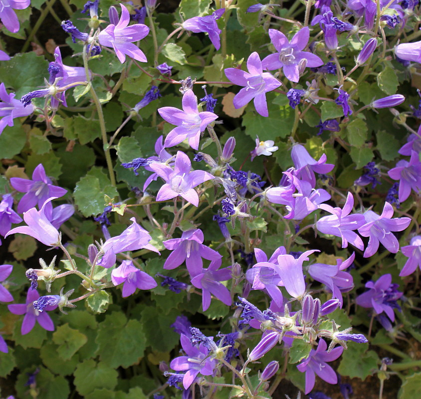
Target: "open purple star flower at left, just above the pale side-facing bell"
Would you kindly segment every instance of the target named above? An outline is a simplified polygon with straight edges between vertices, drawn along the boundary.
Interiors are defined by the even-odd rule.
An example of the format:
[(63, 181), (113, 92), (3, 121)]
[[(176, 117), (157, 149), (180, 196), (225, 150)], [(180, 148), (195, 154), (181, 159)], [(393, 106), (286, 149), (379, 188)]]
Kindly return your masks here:
[[(67, 193), (67, 190), (53, 186), (51, 179), (45, 175), (42, 164), (39, 164), (32, 173), (32, 180), (11, 178), (10, 185), (20, 193), (26, 193), (17, 205), (17, 212), (26, 212), (36, 204), (43, 206), (49, 198), (60, 198)], [(52, 204), (48, 202), (46, 208), (52, 209)]]

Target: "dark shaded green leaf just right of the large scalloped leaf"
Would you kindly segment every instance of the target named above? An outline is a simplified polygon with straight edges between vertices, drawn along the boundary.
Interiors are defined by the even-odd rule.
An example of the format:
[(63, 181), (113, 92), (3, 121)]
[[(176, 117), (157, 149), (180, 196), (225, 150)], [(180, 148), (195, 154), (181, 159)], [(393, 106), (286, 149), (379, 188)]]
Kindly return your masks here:
[(175, 316), (163, 315), (152, 307), (141, 314), (142, 330), (146, 337), (146, 346), (158, 352), (170, 352), (179, 342), (180, 336), (170, 327)]

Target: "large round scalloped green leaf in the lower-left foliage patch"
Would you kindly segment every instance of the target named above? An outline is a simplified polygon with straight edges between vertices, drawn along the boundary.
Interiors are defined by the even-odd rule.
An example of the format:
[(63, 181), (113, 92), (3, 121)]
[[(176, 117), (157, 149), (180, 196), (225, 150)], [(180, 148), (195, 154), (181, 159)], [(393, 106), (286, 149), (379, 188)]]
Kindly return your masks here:
[[(152, 324), (148, 327), (155, 331)], [(105, 316), (105, 320), (100, 323), (95, 342), (99, 346), (101, 361), (113, 368), (127, 368), (139, 363), (143, 357), (146, 339), (139, 321), (127, 322), (123, 313), (113, 312)]]

